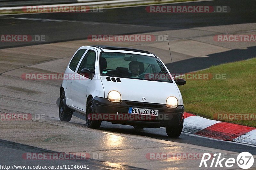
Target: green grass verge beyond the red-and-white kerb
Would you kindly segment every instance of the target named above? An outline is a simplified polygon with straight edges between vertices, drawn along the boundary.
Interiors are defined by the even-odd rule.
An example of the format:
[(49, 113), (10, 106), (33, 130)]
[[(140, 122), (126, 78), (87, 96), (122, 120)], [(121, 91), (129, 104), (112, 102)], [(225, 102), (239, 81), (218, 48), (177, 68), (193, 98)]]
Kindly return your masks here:
[[(214, 119), (217, 113), (256, 114), (256, 58), (196, 73), (211, 73), (213, 77), (226, 74), (226, 79), (187, 80), (186, 85), (179, 86), (186, 112), (208, 119)], [(256, 127), (255, 119), (220, 121)]]

